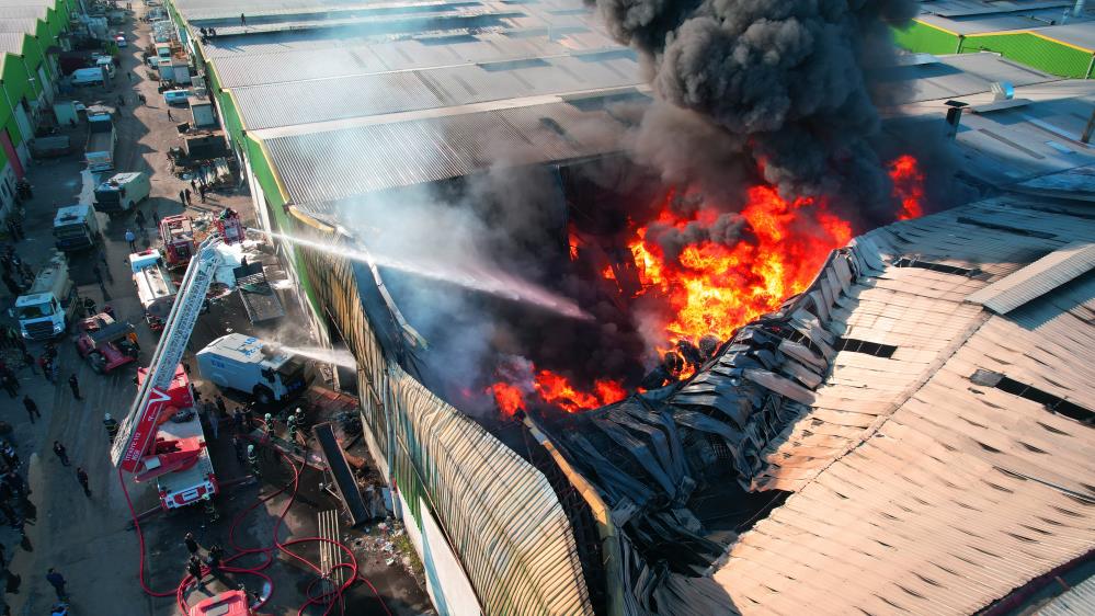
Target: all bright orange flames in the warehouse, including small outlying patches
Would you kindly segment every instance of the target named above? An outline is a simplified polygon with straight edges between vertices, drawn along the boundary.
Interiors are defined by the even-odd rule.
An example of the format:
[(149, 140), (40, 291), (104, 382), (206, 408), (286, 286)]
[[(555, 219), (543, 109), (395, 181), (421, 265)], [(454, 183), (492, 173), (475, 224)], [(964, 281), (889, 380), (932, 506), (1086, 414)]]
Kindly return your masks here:
[[(902, 156), (887, 168), (893, 181), (893, 197), (901, 204), (898, 218), (923, 215), (924, 175), (916, 159)], [(677, 213), (673, 207), (674, 191), (666, 195), (653, 221), (632, 227), (627, 246), (641, 284), (637, 295), (657, 294), (664, 299), (664, 323), (659, 330), (662, 340), (655, 347), (659, 354), (669, 352), (682, 360), (673, 368), (673, 378), (685, 378), (695, 368), (677, 353), (681, 344), (696, 345), (704, 336), (729, 340), (738, 328), (803, 292), (829, 253), (852, 239), (851, 223), (837, 216), (825, 198), (788, 201), (765, 185), (749, 189), (746, 196), (738, 220), (741, 232), (732, 243), (702, 240), (668, 255), (659, 243), (666, 231), (714, 229), (722, 216), (705, 207)], [(573, 232), (569, 244), (570, 256), (577, 260), (580, 240)], [(604, 267), (601, 276), (617, 290), (623, 288), (613, 266)], [(535, 370), (531, 380), (524, 388), (504, 381), (488, 388), (503, 415), (524, 410), (533, 397), (579, 412), (627, 395), (613, 380), (597, 380), (593, 391), (581, 391), (561, 375), (546, 369)]]

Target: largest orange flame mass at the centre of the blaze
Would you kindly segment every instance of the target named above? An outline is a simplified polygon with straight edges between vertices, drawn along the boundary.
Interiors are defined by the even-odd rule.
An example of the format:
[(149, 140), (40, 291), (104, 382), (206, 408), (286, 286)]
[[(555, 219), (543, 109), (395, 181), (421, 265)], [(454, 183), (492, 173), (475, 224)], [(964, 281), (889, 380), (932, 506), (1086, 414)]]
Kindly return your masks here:
[[(673, 315), (665, 324), (666, 342), (695, 342), (707, 334), (729, 339), (741, 326), (802, 292), (829, 252), (852, 239), (851, 224), (822, 202), (787, 201), (771, 186), (754, 186), (748, 196), (741, 216), (753, 238), (732, 246), (705, 240), (668, 261), (661, 247), (648, 239), (649, 226), (636, 229), (629, 248), (642, 293), (664, 294)], [(658, 220), (683, 228), (716, 218), (709, 209), (692, 217), (675, 215), (666, 199)]]

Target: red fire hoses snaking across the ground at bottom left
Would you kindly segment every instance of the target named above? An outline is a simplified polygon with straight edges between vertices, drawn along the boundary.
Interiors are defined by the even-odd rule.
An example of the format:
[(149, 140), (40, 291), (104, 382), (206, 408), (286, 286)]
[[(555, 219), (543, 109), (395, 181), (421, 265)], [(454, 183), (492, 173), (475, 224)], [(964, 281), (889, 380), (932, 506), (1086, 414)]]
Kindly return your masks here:
[[(333, 539), (328, 539), (326, 537), (304, 537), (299, 539), (292, 539), (285, 543), (278, 540), (277, 535), (282, 528), (282, 524), (285, 521), (285, 516), (288, 515), (289, 507), (293, 506), (293, 502), (297, 498), (297, 491), (300, 484), (300, 469), (297, 468), (297, 466), (293, 463), (293, 459), (289, 458), (285, 454), (285, 452), (278, 449), (277, 453), (289, 465), (289, 468), (293, 469), (293, 481), (286, 483), (285, 486), (282, 486), (280, 489), (277, 489), (274, 492), (271, 492), (270, 494), (266, 494), (265, 497), (255, 499), (255, 501), (252, 504), (248, 505), (246, 509), (239, 512), (235, 518), (232, 518), (232, 524), (228, 529), (228, 543), (231, 546), (231, 548), (236, 550), (236, 554), (229, 556), (224, 560), (220, 570), (227, 573), (256, 575), (265, 580), (265, 582), (270, 586), (270, 593), (266, 596), (260, 597), (259, 602), (251, 606), (252, 608), (262, 607), (274, 593), (274, 581), (270, 578), (270, 575), (263, 573), (263, 570), (265, 570), (266, 568), (269, 568), (271, 564), (274, 563), (275, 550), (277, 550), (301, 562), (303, 564), (305, 564), (319, 575), (319, 578), (312, 580), (308, 584), (305, 591), (305, 594), (308, 596), (308, 600), (305, 602), (304, 605), (299, 607), (299, 609), (297, 609), (297, 616), (303, 616), (305, 609), (307, 609), (311, 605), (327, 605), (327, 609), (323, 612), (323, 615), (327, 616), (328, 614), (330, 614), (331, 609), (342, 601), (345, 592), (358, 580), (365, 582), (365, 584), (368, 585), (369, 590), (373, 591), (373, 594), (376, 595), (377, 601), (380, 602), (380, 607), (384, 609), (384, 613), (387, 614), (388, 616), (391, 616), (391, 612), (388, 611), (388, 606), (384, 603), (384, 598), (380, 596), (380, 593), (376, 590), (376, 586), (374, 586), (373, 583), (369, 582), (368, 579), (362, 575), (361, 572), (358, 571), (357, 559), (354, 557), (353, 551), (351, 551), (349, 547), (339, 541), (335, 541)], [(178, 603), (179, 609), (182, 612), (182, 614), (184, 615), (189, 614), (190, 612), (189, 612), (189, 606), (186, 605), (185, 596), (191, 584), (193, 584), (196, 581), (194, 580), (193, 575), (186, 574), (179, 582), (179, 585), (175, 586), (174, 590), (168, 592), (153, 591), (145, 582), (145, 535), (140, 529), (140, 521), (137, 518), (137, 512), (134, 510), (133, 501), (129, 499), (129, 490), (128, 488), (126, 488), (125, 476), (123, 476), (121, 468), (118, 469), (118, 483), (122, 484), (122, 492), (125, 494), (125, 502), (126, 505), (129, 507), (129, 515), (133, 517), (134, 528), (136, 528), (137, 531), (137, 541), (140, 545), (140, 562), (137, 569), (137, 580), (140, 582), (140, 588), (145, 591), (145, 594), (148, 594), (149, 596), (153, 597), (168, 597), (174, 595), (175, 602)], [(252, 510), (258, 507), (260, 504), (270, 501), (271, 499), (281, 494), (282, 492), (285, 492), (287, 489), (289, 489), (289, 487), (293, 488), (293, 493), (289, 495), (288, 501), (285, 503), (285, 507), (277, 516), (277, 521), (274, 523), (274, 545), (263, 548), (241, 547), (236, 541), (236, 528), (239, 526), (240, 522), (243, 521), (243, 517), (246, 517), (249, 513), (251, 513)], [(350, 558), (349, 561), (340, 562), (332, 569), (332, 571), (335, 569), (343, 569), (343, 568), (349, 569), (350, 575), (346, 577), (345, 581), (338, 589), (327, 591), (316, 596), (311, 595), (312, 589), (316, 586), (318, 582), (322, 581), (328, 575), (330, 575), (332, 571), (328, 571), (324, 573), (324, 571), (320, 569), (318, 564), (311, 562), (310, 560), (288, 549), (289, 546), (294, 546), (297, 544), (306, 544), (311, 541), (319, 541), (333, 545), (338, 547), (340, 550), (342, 550)], [(229, 562), (252, 555), (264, 555), (265, 560), (263, 560), (263, 562), (261, 562), (260, 564), (253, 567), (228, 567)], [(202, 567), (203, 577), (209, 574), (210, 571), (212, 569), (209, 567), (207, 566)]]

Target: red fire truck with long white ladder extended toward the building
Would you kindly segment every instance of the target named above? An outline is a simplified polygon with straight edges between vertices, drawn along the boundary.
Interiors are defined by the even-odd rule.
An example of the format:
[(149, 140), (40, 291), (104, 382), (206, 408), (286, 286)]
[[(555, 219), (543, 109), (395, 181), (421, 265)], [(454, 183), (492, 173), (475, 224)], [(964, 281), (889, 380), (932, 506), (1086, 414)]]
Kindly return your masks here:
[[(217, 493), (217, 477), (194, 407), (194, 390), (181, 362), (209, 285), (224, 256), (217, 247), (243, 239), (239, 216), (226, 209), (216, 232), (198, 247), (163, 324), (148, 368), (138, 370), (137, 397), (111, 447), (115, 467), (138, 482), (156, 480), (160, 504), (176, 509)], [(209, 504), (212, 506), (212, 504)]]

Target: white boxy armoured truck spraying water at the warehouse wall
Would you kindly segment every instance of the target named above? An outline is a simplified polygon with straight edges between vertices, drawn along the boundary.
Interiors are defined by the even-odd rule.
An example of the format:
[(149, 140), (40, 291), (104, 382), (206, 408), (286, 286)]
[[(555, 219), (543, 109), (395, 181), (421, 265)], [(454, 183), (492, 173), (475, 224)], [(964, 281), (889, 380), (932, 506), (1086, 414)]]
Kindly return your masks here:
[(303, 393), (311, 380), (299, 356), (240, 333), (223, 335), (198, 351), (197, 368), (217, 386), (251, 393), (262, 406)]

